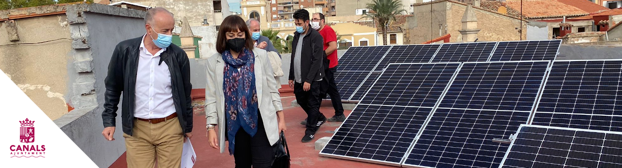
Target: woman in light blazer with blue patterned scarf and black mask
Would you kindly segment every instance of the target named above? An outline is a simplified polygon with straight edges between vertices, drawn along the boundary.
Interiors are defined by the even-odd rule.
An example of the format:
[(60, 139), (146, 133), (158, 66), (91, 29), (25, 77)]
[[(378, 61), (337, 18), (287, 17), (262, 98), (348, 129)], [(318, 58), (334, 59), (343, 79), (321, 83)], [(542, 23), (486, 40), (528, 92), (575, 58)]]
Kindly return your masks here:
[(234, 15), (220, 25), (216, 50), (205, 89), (210, 146), (222, 153), (229, 141), (236, 167), (271, 167), (272, 145), (287, 128), (267, 52), (253, 47), (244, 19)]

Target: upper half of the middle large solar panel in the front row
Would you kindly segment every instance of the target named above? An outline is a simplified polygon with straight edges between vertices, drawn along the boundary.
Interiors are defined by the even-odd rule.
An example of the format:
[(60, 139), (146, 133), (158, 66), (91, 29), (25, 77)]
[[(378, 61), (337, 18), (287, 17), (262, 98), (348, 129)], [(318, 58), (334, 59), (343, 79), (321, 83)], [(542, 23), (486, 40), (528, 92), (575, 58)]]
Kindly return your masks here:
[(549, 61), (464, 63), (440, 108), (531, 111)]

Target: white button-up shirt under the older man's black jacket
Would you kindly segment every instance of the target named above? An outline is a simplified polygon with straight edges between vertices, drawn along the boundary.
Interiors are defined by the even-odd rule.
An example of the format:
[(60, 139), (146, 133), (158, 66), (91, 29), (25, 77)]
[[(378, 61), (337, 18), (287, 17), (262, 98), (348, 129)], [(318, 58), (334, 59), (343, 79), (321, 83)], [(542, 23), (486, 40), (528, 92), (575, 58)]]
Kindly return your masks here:
[[(145, 34), (146, 35), (146, 34)], [(136, 109), (134, 117), (142, 119), (165, 118), (175, 113), (169, 66), (160, 62), (160, 49), (155, 55), (145, 48), (142, 36), (136, 75)]]

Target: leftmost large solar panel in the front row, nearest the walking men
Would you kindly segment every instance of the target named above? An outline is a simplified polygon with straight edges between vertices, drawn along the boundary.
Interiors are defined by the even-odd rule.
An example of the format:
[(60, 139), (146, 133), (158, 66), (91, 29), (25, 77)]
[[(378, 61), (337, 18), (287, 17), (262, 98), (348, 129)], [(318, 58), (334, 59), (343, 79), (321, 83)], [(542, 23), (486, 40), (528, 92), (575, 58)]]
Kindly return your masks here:
[[(460, 63), (389, 65), (320, 155), (399, 166), (459, 67)], [(398, 103), (409, 99), (408, 104)]]

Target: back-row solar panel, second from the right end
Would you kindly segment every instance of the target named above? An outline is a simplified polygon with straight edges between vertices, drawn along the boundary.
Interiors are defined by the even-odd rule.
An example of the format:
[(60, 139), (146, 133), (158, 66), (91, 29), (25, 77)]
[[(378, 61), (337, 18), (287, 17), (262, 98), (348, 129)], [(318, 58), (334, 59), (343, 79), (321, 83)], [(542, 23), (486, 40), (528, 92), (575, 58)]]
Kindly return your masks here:
[(443, 44), (431, 62), (486, 62), (497, 42)]

